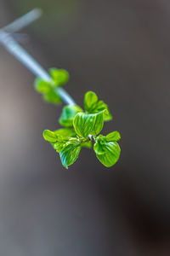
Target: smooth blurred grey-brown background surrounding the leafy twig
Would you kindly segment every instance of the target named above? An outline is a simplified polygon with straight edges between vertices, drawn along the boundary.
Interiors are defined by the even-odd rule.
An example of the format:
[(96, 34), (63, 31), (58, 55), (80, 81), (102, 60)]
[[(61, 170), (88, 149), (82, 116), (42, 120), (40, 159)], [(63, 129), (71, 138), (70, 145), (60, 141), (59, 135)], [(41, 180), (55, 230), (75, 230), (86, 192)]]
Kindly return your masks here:
[(0, 26), (35, 7), (25, 48), (70, 72), (81, 106), (87, 90), (108, 103), (122, 154), (107, 169), (84, 149), (65, 171), (42, 138), (62, 106), (0, 47), (0, 254), (170, 255), (170, 2), (1, 0)]

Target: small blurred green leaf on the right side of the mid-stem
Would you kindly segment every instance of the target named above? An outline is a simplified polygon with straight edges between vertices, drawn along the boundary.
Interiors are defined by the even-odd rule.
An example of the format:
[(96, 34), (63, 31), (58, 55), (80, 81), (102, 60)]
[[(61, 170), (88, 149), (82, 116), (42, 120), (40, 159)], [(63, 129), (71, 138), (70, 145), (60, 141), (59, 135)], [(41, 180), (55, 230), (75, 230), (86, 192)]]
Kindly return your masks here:
[(65, 69), (50, 68), (49, 73), (54, 80), (54, 84), (61, 86), (69, 80), (69, 73)]

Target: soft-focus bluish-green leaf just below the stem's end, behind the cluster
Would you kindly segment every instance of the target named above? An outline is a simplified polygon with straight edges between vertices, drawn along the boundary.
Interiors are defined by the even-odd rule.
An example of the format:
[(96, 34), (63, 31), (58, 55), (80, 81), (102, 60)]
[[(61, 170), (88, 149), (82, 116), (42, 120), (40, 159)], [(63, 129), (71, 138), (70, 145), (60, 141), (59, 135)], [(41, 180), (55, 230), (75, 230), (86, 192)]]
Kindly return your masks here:
[(77, 105), (65, 106), (59, 118), (59, 124), (65, 127), (71, 127), (74, 117), (79, 112), (82, 112), (82, 108)]

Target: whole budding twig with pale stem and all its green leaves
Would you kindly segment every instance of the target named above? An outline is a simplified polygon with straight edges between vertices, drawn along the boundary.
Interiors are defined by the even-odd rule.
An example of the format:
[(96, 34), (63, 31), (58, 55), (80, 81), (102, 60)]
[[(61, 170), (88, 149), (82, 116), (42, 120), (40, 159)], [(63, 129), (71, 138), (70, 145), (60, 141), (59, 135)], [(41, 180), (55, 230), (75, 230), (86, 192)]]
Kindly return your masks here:
[(45, 102), (66, 103), (59, 117), (59, 124), (64, 128), (56, 131), (45, 130), (43, 137), (59, 153), (65, 168), (77, 160), (82, 148), (92, 147), (98, 160), (104, 166), (111, 167), (116, 164), (121, 153), (117, 143), (121, 136), (118, 131), (112, 131), (106, 136), (100, 134), (104, 122), (112, 119), (105, 102), (100, 101), (93, 91), (88, 91), (84, 96), (84, 110), (77, 106), (71, 96), (61, 88), (69, 80), (69, 73), (65, 69), (57, 68), (51, 68), (47, 73), (14, 39), (14, 33), (31, 24), (40, 15), (40, 9), (34, 9), (0, 29), (0, 44), (37, 76), (34, 86)]

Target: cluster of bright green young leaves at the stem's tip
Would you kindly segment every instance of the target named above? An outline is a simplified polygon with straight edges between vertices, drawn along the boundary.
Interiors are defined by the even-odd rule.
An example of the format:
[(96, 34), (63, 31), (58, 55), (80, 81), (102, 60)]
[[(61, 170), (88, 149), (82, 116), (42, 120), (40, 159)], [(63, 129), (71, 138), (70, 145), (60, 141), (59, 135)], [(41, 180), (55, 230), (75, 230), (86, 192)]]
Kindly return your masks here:
[[(53, 72), (53, 78), (56, 79), (56, 70)], [(99, 161), (104, 166), (111, 167), (116, 164), (121, 153), (117, 143), (121, 136), (118, 131), (106, 136), (99, 134), (104, 122), (111, 119), (105, 102), (99, 101), (93, 91), (88, 91), (84, 96), (84, 110), (77, 105), (65, 106), (59, 118), (59, 124), (65, 128), (57, 131), (45, 130), (43, 137), (59, 153), (65, 168), (77, 160), (82, 148), (92, 148), (93, 144)]]

